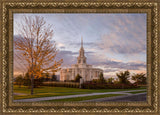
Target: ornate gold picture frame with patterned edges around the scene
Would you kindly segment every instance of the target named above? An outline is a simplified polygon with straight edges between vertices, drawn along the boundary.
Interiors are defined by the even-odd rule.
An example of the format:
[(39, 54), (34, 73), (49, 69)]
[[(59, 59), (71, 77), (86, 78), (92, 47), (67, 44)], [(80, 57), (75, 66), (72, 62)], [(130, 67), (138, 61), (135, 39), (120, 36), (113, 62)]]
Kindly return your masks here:
[[(158, 6), (154, 1), (39, 1), (2, 0), (1, 21), (1, 113), (49, 114), (49, 113), (148, 113), (158, 114), (159, 94), (159, 50)], [(147, 13), (147, 75), (148, 92), (146, 102), (103, 103), (18, 103), (12, 102), (13, 76), (13, 13)]]

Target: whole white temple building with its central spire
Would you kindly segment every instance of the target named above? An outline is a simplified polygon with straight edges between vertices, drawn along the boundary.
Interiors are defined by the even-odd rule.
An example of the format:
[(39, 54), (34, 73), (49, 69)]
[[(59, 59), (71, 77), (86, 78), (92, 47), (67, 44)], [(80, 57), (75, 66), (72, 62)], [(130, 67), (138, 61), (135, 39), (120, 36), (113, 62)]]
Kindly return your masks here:
[(81, 48), (79, 50), (79, 56), (77, 57), (77, 64), (72, 65), (71, 68), (61, 69), (60, 81), (75, 80), (77, 74), (82, 77), (83, 81), (91, 81), (99, 78), (103, 70), (100, 68), (92, 68), (92, 65), (88, 65), (84, 53), (83, 39), (81, 38)]

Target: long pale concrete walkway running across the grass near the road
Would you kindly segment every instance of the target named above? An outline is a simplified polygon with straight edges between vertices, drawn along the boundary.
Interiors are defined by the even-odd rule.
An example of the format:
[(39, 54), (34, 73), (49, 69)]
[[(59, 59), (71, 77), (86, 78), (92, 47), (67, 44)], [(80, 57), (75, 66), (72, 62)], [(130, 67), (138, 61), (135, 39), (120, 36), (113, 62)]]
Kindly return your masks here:
[(31, 99), (19, 99), (19, 100), (14, 100), (13, 102), (37, 102), (37, 101), (47, 101), (47, 100), (55, 100), (55, 99), (66, 99), (66, 98), (85, 97), (85, 96), (94, 96), (94, 95), (105, 95), (105, 94), (133, 95), (128, 92), (137, 92), (137, 91), (146, 91), (146, 90), (142, 89), (142, 90), (129, 90), (129, 91), (117, 91), (117, 92), (105, 92), (105, 93), (90, 93), (90, 94), (79, 94), (79, 95), (41, 97), (41, 98), (31, 98)]

